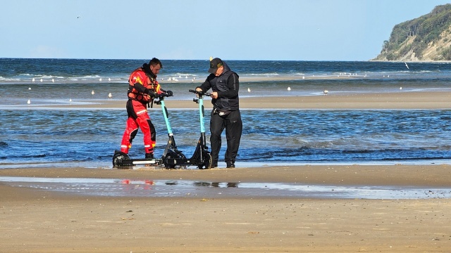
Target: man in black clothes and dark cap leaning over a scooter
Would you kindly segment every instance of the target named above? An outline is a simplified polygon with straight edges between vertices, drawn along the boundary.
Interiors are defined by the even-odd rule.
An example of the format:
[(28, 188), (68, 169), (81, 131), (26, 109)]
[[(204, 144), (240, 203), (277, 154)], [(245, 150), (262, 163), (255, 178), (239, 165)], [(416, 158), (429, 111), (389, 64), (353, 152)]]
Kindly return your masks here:
[(211, 92), (213, 110), (210, 119), (211, 168), (218, 167), (218, 155), (221, 150), (221, 134), (226, 129), (227, 150), (225, 161), (228, 168), (235, 168), (235, 160), (240, 147), (242, 121), (238, 98), (239, 81), (237, 73), (230, 70), (220, 58), (210, 61), (205, 82), (196, 87), (196, 91)]

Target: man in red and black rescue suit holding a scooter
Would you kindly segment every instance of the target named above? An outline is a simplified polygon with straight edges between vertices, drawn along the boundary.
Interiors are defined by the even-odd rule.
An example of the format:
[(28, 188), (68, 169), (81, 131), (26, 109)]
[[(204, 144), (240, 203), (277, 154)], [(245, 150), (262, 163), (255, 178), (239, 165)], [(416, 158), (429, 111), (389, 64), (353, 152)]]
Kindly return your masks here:
[(154, 147), (156, 133), (154, 124), (147, 114), (147, 107), (152, 104), (155, 97), (172, 96), (172, 91), (164, 91), (156, 81), (156, 75), (163, 67), (161, 61), (152, 58), (149, 64), (144, 63), (130, 74), (128, 79), (128, 101), (127, 101), (127, 125), (121, 142), (121, 151), (128, 154), (135, 138), (138, 127), (144, 134), (144, 150), (146, 159), (154, 159)]

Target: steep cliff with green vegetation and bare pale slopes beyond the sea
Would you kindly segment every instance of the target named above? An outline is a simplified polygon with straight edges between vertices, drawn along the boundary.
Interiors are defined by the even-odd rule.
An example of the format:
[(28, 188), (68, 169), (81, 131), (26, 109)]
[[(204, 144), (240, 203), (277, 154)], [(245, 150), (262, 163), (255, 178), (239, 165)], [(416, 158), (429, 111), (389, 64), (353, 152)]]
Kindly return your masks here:
[(395, 25), (373, 60), (451, 60), (451, 4)]

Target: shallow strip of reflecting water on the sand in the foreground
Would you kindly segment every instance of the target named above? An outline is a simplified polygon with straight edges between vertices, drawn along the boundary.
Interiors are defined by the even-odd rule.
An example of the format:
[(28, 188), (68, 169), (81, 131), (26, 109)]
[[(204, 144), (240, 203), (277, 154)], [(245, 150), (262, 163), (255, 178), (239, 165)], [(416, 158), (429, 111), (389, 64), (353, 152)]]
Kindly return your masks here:
[(75, 195), (109, 197), (297, 197), (337, 199), (449, 198), (451, 188), (409, 186), (319, 186), (299, 183), (236, 183), (131, 179), (0, 177), (13, 187), (52, 190)]

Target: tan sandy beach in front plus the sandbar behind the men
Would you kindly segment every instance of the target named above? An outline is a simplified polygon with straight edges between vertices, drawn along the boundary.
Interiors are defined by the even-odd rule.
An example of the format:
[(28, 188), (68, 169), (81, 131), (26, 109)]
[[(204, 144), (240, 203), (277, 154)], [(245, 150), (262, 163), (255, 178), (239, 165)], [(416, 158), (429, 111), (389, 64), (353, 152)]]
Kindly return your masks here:
[[(175, 105), (171, 108), (195, 107), (191, 101), (171, 103)], [(451, 109), (451, 93), (260, 97), (242, 98), (240, 103), (242, 109)], [(87, 106), (124, 105), (125, 101), (116, 100)], [(23, 167), (1, 169), (0, 176), (451, 191), (451, 162), (210, 170)], [(451, 201), (440, 196), (410, 200), (208, 193), (186, 197), (87, 197), (12, 187), (8, 183), (0, 183), (0, 190), (0, 252), (451, 252)]]

